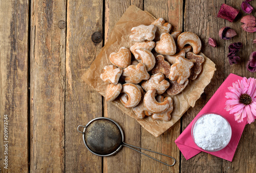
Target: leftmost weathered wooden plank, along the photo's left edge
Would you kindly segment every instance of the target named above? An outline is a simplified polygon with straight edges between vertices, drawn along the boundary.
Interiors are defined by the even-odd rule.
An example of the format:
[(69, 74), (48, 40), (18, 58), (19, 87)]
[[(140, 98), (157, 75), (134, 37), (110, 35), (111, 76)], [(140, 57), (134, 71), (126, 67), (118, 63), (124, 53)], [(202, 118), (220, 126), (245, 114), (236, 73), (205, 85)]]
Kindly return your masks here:
[(0, 9), (0, 172), (27, 172), (29, 1), (0, 1)]

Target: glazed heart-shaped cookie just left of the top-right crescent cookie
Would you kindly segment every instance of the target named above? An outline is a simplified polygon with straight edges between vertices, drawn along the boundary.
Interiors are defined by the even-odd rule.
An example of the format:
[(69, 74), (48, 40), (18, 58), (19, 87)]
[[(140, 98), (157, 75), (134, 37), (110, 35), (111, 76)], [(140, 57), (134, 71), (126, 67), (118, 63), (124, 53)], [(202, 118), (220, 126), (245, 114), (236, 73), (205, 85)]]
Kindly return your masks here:
[(156, 42), (155, 51), (162, 55), (174, 55), (176, 53), (176, 44), (172, 35), (162, 33), (160, 40)]

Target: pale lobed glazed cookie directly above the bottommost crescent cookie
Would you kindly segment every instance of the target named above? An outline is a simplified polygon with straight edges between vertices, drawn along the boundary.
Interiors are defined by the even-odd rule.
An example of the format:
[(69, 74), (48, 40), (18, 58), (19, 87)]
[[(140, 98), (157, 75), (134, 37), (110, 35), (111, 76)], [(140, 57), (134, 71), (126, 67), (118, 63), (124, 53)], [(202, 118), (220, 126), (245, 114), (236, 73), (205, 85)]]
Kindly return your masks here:
[(165, 80), (162, 73), (154, 74), (148, 79), (141, 83), (141, 87), (145, 90), (156, 89), (156, 94), (163, 94), (165, 90), (169, 87), (169, 82)]

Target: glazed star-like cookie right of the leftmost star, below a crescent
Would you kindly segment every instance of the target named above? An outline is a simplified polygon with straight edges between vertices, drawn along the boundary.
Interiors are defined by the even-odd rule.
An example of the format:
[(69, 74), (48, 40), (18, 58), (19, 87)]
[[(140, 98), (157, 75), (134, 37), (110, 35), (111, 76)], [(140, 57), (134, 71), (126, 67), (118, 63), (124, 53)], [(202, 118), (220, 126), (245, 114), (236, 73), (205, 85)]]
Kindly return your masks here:
[(131, 65), (123, 69), (123, 74), (126, 83), (139, 83), (142, 80), (150, 78), (150, 74), (147, 73), (144, 63), (138, 63), (136, 66)]

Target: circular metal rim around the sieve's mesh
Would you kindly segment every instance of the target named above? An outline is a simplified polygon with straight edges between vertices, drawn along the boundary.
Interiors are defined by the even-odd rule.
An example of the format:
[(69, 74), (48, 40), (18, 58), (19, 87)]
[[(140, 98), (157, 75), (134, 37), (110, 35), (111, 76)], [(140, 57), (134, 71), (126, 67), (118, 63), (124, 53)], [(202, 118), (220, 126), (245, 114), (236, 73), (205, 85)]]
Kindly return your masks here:
[(123, 130), (122, 130), (121, 126), (120, 126), (117, 122), (115, 122), (114, 120), (112, 120), (112, 119), (110, 119), (110, 118), (106, 118), (106, 117), (94, 118), (94, 119), (92, 119), (90, 122), (88, 122), (88, 123), (86, 124), (86, 126), (83, 128), (83, 132), (82, 132), (83, 143), (84, 143), (84, 145), (86, 145), (87, 149), (88, 149), (91, 153), (93, 153), (93, 154), (95, 154), (95, 155), (97, 155), (97, 156), (102, 156), (102, 157), (112, 156), (112, 155), (116, 154), (116, 153), (121, 149), (122, 143), (120, 144), (120, 146), (119, 146), (113, 153), (108, 154), (108, 155), (99, 155), (99, 154), (97, 154), (97, 153), (94, 153), (94, 152), (89, 148), (89, 146), (88, 146), (87, 143), (86, 143), (86, 140), (85, 140), (86, 137), (85, 137), (85, 135), (84, 135), (85, 132), (86, 132), (86, 128), (87, 128), (93, 121), (99, 120), (99, 119), (106, 119), (106, 120), (110, 120), (110, 121), (114, 122), (114, 123), (116, 124), (116, 126), (119, 128), (119, 131), (121, 132), (122, 143), (123, 143), (124, 135), (123, 135)]

